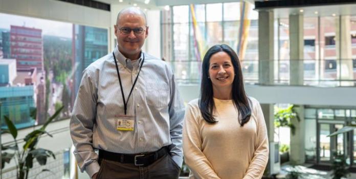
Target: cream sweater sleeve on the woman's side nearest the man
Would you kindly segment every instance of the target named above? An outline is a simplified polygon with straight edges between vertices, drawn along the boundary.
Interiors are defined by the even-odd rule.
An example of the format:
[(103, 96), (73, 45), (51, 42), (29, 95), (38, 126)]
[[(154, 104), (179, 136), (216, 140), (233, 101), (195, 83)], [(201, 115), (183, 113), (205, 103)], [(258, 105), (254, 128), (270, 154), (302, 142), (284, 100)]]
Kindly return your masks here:
[(184, 160), (195, 178), (219, 178), (202, 152), (202, 136), (197, 116), (200, 110), (188, 104), (183, 127)]

